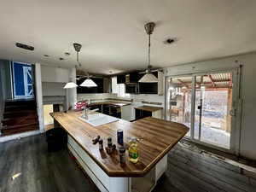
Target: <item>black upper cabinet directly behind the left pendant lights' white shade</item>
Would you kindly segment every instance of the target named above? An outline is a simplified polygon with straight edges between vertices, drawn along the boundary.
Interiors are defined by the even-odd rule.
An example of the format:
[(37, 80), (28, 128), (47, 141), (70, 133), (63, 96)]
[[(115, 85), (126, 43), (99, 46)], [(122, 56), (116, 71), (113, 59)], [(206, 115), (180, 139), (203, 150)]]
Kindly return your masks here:
[[(77, 93), (103, 93), (104, 92), (104, 80), (103, 78), (91, 78), (96, 84), (96, 87), (77, 87)], [(77, 84), (80, 85), (85, 79), (78, 79)]]

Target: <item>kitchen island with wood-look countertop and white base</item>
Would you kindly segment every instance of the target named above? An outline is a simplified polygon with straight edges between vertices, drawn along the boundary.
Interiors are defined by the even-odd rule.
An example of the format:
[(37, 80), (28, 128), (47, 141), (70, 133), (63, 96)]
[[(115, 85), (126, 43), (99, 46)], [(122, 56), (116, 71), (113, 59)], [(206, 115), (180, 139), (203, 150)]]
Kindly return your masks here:
[[(92, 126), (80, 117), (82, 112), (52, 113), (68, 134), (67, 147), (98, 189), (109, 192), (148, 192), (154, 189), (159, 177), (166, 171), (167, 153), (189, 131), (185, 125), (155, 118), (129, 122), (123, 119), (105, 125)], [(117, 130), (124, 131), (124, 143), (129, 138), (139, 139), (139, 160), (126, 160), (120, 166), (118, 153), (107, 154), (94, 145), (92, 139), (100, 135), (104, 146), (107, 138), (117, 143)], [(128, 152), (126, 151), (126, 157)]]

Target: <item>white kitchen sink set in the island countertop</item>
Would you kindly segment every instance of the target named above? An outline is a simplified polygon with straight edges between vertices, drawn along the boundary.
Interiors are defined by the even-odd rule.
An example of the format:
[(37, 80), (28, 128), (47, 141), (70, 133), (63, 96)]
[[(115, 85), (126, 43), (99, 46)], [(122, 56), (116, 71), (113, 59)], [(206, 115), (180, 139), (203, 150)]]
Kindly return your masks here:
[(82, 119), (86, 123), (89, 123), (90, 125), (93, 125), (93, 126), (104, 125), (104, 124), (112, 123), (114, 121), (119, 120), (118, 118), (109, 116), (107, 114), (102, 114), (102, 113), (88, 114), (88, 119), (85, 119), (83, 114), (81, 117), (79, 117), (79, 119)]

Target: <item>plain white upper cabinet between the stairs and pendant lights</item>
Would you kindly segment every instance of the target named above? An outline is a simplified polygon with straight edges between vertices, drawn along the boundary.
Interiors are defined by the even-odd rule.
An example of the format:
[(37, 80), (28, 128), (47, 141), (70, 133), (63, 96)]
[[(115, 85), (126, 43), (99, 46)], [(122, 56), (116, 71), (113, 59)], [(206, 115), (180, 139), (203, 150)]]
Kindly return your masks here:
[(66, 68), (41, 66), (41, 74), (43, 82), (67, 83), (69, 80), (69, 71)]

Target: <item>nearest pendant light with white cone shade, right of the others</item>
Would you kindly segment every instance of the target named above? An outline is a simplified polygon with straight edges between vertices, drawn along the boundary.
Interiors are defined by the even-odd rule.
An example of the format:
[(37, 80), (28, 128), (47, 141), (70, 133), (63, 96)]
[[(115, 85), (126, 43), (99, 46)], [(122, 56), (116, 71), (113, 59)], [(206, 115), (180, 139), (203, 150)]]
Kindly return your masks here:
[(150, 35), (154, 31), (154, 22), (147, 23), (145, 27), (145, 31), (148, 34), (148, 69), (146, 70), (146, 74), (143, 75), (141, 79), (139, 79), (139, 83), (157, 83), (158, 79), (154, 76), (154, 74), (150, 73), (151, 65), (150, 65), (150, 46), (151, 46), (151, 38)]

